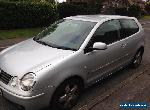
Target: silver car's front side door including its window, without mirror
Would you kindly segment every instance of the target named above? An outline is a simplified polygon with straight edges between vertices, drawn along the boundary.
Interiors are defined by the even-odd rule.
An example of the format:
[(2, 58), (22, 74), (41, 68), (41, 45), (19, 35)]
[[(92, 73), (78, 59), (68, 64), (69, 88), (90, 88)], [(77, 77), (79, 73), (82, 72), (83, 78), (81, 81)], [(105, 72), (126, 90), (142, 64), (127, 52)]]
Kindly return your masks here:
[[(84, 55), (85, 65), (88, 69), (88, 82), (97, 80), (123, 64), (126, 41), (119, 41), (120, 29), (118, 20), (106, 21), (99, 26), (89, 41)], [(90, 48), (95, 42), (106, 43), (108, 48), (91, 51)]]

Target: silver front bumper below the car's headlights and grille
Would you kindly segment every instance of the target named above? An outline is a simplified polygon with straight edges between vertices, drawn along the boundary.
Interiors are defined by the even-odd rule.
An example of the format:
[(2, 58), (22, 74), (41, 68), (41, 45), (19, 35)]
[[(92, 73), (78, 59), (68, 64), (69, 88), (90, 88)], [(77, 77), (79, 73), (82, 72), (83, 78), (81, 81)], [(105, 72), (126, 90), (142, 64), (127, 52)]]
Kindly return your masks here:
[(2, 96), (4, 98), (23, 106), (25, 110), (39, 110), (49, 105), (49, 100), (44, 93), (32, 97), (24, 97), (14, 94), (1, 86), (0, 89), (2, 90)]

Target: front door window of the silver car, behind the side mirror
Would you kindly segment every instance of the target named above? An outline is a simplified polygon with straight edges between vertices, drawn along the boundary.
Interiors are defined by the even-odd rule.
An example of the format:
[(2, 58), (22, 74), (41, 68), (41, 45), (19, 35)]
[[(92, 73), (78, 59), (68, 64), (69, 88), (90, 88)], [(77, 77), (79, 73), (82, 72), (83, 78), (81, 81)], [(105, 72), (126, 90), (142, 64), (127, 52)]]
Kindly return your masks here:
[(95, 42), (103, 42), (108, 44), (116, 42), (120, 37), (120, 22), (119, 20), (110, 20), (104, 22), (94, 33), (91, 44)]

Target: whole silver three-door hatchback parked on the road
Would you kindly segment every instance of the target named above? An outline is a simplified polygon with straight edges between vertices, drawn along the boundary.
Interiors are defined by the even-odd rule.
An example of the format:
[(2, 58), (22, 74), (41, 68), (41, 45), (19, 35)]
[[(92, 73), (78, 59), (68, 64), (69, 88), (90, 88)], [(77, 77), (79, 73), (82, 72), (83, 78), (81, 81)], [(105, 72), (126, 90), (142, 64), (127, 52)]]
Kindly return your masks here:
[(0, 53), (0, 91), (26, 110), (71, 109), (84, 87), (138, 67), (143, 53), (144, 31), (134, 17), (67, 17)]

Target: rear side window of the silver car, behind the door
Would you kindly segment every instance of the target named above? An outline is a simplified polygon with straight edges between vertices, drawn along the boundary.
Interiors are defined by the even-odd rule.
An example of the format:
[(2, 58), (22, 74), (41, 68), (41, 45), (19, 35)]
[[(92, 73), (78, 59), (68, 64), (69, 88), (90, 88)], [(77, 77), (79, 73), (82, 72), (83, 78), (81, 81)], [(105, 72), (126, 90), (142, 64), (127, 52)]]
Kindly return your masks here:
[(132, 19), (121, 19), (121, 38), (129, 37), (139, 31), (137, 23)]

